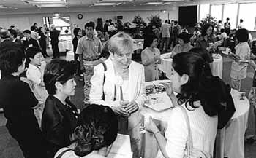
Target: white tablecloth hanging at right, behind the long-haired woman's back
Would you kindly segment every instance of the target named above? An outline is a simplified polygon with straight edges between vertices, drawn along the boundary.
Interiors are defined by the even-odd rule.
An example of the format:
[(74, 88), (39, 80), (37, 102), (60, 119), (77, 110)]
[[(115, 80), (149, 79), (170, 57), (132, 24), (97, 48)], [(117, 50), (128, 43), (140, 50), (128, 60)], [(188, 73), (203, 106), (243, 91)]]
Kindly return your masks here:
[(217, 157), (244, 158), (244, 135), (249, 115), (249, 100), (240, 100), (240, 93), (231, 90), (236, 112), (217, 134)]

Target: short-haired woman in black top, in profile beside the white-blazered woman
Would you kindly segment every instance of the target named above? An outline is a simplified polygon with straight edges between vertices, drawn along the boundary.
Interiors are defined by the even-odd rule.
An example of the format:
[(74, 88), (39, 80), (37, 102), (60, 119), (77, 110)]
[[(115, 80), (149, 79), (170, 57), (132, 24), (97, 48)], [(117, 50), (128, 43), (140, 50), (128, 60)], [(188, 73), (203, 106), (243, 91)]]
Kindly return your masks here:
[(51, 60), (45, 68), (43, 79), (49, 96), (42, 112), (42, 133), (48, 143), (48, 158), (74, 141), (78, 109), (69, 96), (75, 95), (75, 71), (75, 63), (66, 60)]

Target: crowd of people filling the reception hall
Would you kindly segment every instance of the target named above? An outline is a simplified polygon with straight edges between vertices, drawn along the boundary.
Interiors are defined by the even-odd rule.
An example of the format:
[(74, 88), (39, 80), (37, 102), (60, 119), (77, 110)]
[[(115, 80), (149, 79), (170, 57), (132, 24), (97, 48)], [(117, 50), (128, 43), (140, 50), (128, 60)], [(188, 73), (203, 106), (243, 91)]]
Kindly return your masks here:
[[(129, 135), (133, 157), (141, 157), (145, 82), (159, 79), (160, 55), (170, 47), (170, 84), (164, 85), (174, 108), (165, 133), (152, 119), (146, 130), (157, 140), (158, 157), (184, 157), (188, 141), (197, 151), (213, 157), (217, 129), (225, 127), (236, 109), (230, 86), (211, 73), (211, 53), (227, 47), (223, 45), (227, 36), (236, 39), (233, 56), (238, 59), (231, 66), (230, 84), (240, 90), (248, 66), (240, 60), (249, 60), (249, 66), (256, 68), (248, 31), (239, 25), (238, 31), (228, 32), (228, 20), (225, 28), (217, 29), (219, 34), (214, 25), (206, 24), (192, 36), (176, 20), (166, 20), (161, 28), (149, 25), (144, 31), (140, 64), (132, 60), (134, 39), (122, 31), (121, 20), (116, 26), (111, 20), (103, 26), (100, 18), (97, 23), (96, 27), (93, 22), (86, 23), (85, 34), (81, 28), (74, 29), (75, 61), (58, 59), (59, 31), (54, 25), (48, 30), (35, 24), (20, 33), (26, 37), (19, 38), (21, 41), (15, 28), (0, 30), (0, 105), (6, 127), (24, 157), (107, 157), (117, 133)], [(55, 58), (50, 63), (44, 61), (47, 31)], [(75, 76), (80, 74), (84, 82), (82, 111), (69, 99), (75, 95)], [(252, 104), (255, 106), (255, 98)]]

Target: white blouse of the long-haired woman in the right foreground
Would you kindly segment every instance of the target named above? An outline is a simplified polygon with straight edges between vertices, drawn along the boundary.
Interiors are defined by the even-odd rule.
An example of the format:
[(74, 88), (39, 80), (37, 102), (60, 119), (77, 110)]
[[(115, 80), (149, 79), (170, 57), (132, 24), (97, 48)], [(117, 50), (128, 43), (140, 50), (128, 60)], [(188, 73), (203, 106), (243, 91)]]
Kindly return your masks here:
[[(184, 106), (189, 116), (193, 147), (205, 151), (213, 157), (214, 141), (217, 135), (217, 116), (208, 116), (200, 105), (200, 101), (196, 101), (194, 104), (199, 107), (193, 111), (187, 110), (184, 104), (181, 105)], [(188, 127), (181, 108), (173, 108), (171, 111), (165, 138), (167, 139), (165, 151), (168, 157), (183, 158), (188, 138)]]

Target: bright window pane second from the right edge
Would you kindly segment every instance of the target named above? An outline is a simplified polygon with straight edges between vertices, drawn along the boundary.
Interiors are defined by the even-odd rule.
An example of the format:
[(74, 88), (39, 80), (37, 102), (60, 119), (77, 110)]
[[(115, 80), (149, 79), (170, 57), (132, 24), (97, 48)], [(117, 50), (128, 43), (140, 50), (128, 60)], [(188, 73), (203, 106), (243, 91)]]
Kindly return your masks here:
[(223, 23), (225, 23), (227, 17), (230, 18), (230, 28), (236, 28), (236, 15), (238, 4), (224, 4)]

